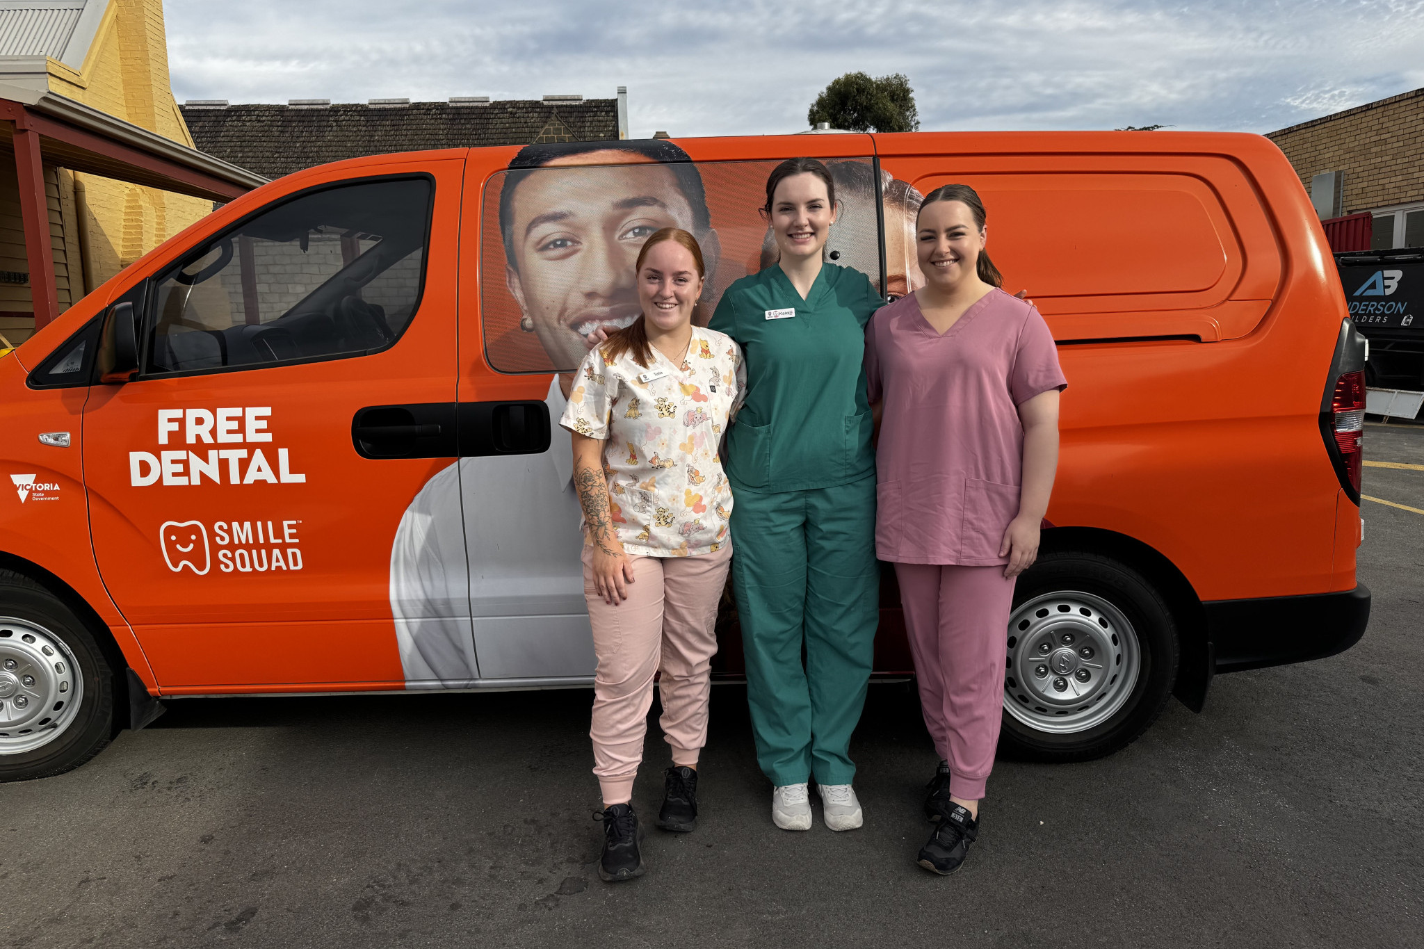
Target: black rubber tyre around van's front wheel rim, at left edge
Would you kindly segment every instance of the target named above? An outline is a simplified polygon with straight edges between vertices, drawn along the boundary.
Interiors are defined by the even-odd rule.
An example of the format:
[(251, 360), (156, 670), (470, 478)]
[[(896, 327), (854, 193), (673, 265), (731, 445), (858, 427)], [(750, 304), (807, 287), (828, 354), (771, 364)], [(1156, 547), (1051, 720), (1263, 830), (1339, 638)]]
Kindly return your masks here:
[[(7, 625), (6, 617), (19, 622)], [(46, 744), (6, 753), (6, 738), (0, 737), (0, 781), (27, 781), (77, 768), (98, 754), (112, 737), (114, 670), (104, 659), (94, 630), (40, 583), (0, 569), (0, 650), (7, 639), (23, 635), (21, 625), (38, 627), (61, 646), (56, 657), (68, 653), (83, 689), (75, 690), (81, 693), (78, 710), (68, 719), (64, 730)]]

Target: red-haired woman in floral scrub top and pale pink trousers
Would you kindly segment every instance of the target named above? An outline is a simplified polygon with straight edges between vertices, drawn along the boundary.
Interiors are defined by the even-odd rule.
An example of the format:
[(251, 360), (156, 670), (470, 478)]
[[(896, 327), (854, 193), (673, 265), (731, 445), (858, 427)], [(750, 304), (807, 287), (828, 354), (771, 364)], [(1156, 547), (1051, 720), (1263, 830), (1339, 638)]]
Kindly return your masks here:
[(642, 316), (588, 353), (560, 424), (574, 438), (584, 508), (584, 593), (594, 630), (594, 774), (605, 881), (644, 872), (631, 798), (652, 679), (672, 746), (658, 825), (696, 824), (716, 609), (732, 553), (732, 491), (718, 444), (742, 394), (742, 350), (692, 326), (705, 267), (696, 239), (664, 228), (637, 263)]

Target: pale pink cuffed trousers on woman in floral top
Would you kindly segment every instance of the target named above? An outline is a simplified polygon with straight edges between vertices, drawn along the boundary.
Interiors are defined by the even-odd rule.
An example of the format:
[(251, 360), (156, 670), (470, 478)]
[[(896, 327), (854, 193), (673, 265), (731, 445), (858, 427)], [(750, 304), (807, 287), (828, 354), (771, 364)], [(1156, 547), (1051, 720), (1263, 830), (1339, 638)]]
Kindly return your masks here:
[(642, 763), (661, 672), (662, 736), (672, 763), (693, 767), (708, 738), (716, 608), (726, 586), (732, 546), (701, 556), (629, 556), (637, 578), (628, 599), (609, 605), (594, 588), (592, 548), (584, 548), (584, 596), (594, 626), (594, 774), (604, 807), (627, 804)]

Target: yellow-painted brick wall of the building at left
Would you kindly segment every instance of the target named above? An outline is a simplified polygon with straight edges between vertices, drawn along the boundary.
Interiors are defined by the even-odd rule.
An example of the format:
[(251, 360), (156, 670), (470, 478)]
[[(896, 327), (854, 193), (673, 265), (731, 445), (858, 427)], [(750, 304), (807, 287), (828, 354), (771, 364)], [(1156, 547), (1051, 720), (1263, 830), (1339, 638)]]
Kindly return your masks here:
[[(48, 61), (50, 91), (192, 147), (168, 80), (162, 0), (110, 0), (80, 71)], [(212, 202), (46, 165), (60, 309), (212, 211)], [(0, 161), (0, 270), (28, 270), (13, 162)], [(0, 282), (0, 337), (33, 320), (30, 287)], [(19, 337), (19, 339), (17, 339)], [(0, 343), (3, 347), (4, 343)]]

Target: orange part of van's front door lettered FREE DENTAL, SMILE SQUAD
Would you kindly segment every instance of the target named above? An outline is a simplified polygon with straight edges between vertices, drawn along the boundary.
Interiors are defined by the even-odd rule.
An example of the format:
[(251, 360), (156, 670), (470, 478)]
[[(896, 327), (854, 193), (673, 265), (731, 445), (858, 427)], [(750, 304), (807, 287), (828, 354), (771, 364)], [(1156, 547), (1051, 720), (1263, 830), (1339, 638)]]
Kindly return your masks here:
[[(347, 168), (355, 179), (319, 169), (268, 186), (271, 203), (367, 175), (431, 176), (419, 309), (390, 349), (94, 387), (85, 452), (95, 552), (165, 690), (404, 683), (390, 538), (449, 461), (360, 457), (353, 418), (369, 405), (454, 398), (463, 164), (449, 155), (357, 162)], [(225, 215), (202, 236), (228, 223)], [(148, 262), (145, 275), (185, 248), (177, 250)], [(219, 440), (232, 447), (209, 441), (201, 424), (195, 433), (194, 411), (219, 421), (229, 413), (231, 431)], [(211, 464), (214, 451), (241, 458), (219, 457), (216, 477), (204, 477), (194, 462), (206, 455)], [(145, 468), (135, 454), (172, 467), (155, 478), (152, 462)], [(463, 603), (453, 612), (464, 613)]]

